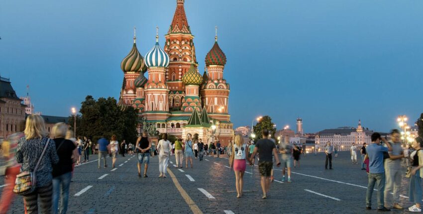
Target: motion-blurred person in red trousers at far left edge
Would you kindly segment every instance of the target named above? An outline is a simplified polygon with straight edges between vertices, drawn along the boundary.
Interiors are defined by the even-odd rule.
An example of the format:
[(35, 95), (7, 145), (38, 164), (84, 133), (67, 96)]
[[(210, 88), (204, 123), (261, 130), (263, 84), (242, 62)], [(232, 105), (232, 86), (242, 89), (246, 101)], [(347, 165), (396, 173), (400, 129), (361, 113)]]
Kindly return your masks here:
[(5, 186), (0, 197), (0, 214), (7, 213), (14, 198), (13, 187), (20, 169), (20, 164), (16, 162), (15, 155), (18, 140), (24, 136), (25, 134), (23, 132), (17, 132), (9, 135), (7, 140), (1, 143), (3, 159), (0, 158), (0, 175), (5, 175)]

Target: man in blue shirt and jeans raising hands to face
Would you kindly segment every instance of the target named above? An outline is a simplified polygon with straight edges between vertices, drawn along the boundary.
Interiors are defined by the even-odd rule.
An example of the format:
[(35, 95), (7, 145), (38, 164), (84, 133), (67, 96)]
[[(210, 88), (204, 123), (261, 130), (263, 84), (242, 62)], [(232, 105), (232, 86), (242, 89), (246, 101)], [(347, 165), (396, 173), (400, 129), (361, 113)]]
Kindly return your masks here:
[[(383, 153), (392, 150), (392, 148), (390, 143), (381, 137), (378, 132), (372, 134), (371, 140), (372, 143), (366, 148), (367, 156), (369, 157), (369, 184), (366, 193), (366, 210), (372, 209), (372, 194), (377, 183), (378, 211), (391, 211), (385, 207), (384, 203), (385, 169), (383, 167)], [(388, 148), (380, 144), (381, 140), (385, 142)]]

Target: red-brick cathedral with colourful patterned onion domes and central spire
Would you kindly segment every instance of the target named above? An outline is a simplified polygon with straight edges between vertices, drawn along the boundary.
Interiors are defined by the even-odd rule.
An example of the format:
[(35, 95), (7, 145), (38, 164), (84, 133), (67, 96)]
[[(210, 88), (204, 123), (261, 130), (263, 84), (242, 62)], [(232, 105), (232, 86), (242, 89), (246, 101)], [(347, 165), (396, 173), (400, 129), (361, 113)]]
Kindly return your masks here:
[(191, 134), (203, 142), (214, 136), (214, 141), (227, 145), (233, 139), (233, 124), (228, 113), (230, 88), (223, 79), (226, 57), (216, 34), (203, 76), (199, 73), (184, 2), (177, 0), (164, 50), (157, 32), (155, 45), (142, 57), (134, 34), (132, 49), (120, 64), (124, 77), (118, 106), (139, 109), (138, 132), (153, 126), (159, 133), (182, 138)]

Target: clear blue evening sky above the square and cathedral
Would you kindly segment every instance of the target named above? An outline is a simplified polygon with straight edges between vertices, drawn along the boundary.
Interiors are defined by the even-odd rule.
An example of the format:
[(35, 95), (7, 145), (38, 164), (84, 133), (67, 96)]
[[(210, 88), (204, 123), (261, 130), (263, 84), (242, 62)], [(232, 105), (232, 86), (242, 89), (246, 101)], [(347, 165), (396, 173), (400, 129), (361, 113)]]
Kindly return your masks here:
[[(87, 95), (116, 99), (120, 61), (160, 44), (176, 0), (2, 0), (0, 75), (36, 111), (67, 116)], [(199, 70), (214, 42), (227, 57), (234, 126), (270, 115), (306, 132), (388, 131), (423, 111), (421, 0), (186, 0)]]

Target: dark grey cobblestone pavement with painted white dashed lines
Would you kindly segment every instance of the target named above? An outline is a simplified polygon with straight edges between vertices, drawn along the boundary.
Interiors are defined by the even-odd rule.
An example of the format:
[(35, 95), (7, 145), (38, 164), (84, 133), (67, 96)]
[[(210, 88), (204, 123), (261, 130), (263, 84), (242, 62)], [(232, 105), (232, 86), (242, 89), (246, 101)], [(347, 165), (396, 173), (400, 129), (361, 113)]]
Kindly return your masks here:
[[(91, 158), (93, 161), (97, 156)], [(166, 179), (158, 178), (157, 156), (150, 158), (148, 178), (138, 178), (136, 156), (119, 156), (116, 161), (117, 169), (114, 171), (111, 171), (110, 158), (107, 158), (108, 168), (98, 169), (97, 161), (88, 162), (75, 169), (68, 213), (377, 213), (377, 191), (373, 194), (373, 210), (365, 210), (367, 174), (361, 170), (360, 164), (351, 164), (349, 152), (340, 152), (337, 158), (333, 158), (333, 170), (324, 169), (323, 153), (308, 154), (301, 158), (301, 167), (293, 168), (292, 183), (280, 182), (281, 168), (275, 168), (277, 181), (272, 183), (267, 199), (261, 198), (260, 177), (256, 166), (247, 166), (244, 196), (236, 198), (235, 175), (227, 167), (228, 159), (225, 155), (220, 158), (205, 157), (201, 162), (194, 159), (194, 168), (185, 168), (184, 164), (182, 170), (173, 166), (175, 156), (171, 156), (169, 174), (175, 176), (180, 189), (186, 195), (181, 194), (169, 174)], [(408, 202), (409, 179), (403, 177), (402, 181), (400, 204), (409, 207), (412, 205)], [(3, 181), (0, 186), (2, 184)], [(88, 190), (81, 193), (84, 189)], [(196, 206), (199, 210), (193, 208)], [(23, 213), (21, 197), (15, 198), (9, 213)], [(407, 212), (393, 210), (391, 213)]]

